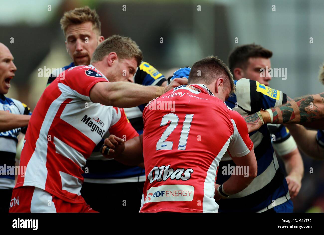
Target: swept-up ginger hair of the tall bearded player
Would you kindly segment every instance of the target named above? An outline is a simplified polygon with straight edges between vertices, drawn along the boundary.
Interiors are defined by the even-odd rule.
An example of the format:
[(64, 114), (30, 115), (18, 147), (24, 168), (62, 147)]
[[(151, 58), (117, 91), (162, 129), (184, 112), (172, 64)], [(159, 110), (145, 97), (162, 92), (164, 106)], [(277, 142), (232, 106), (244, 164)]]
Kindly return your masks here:
[(88, 6), (85, 6), (64, 12), (63, 17), (60, 20), (64, 36), (67, 28), (71, 24), (82, 24), (85, 22), (91, 22), (92, 29), (96, 30), (99, 36), (101, 35), (101, 23), (96, 10), (91, 10)]

